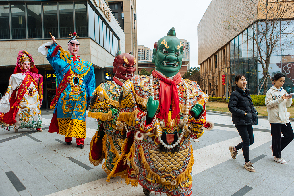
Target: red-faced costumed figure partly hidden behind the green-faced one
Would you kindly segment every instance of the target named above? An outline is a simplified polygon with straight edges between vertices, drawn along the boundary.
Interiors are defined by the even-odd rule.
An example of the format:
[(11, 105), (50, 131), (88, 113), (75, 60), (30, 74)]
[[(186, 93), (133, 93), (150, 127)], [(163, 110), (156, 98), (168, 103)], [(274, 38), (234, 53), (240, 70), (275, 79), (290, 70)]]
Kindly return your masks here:
[[(126, 138), (128, 125), (118, 121), (119, 96), (122, 93), (123, 84), (134, 76), (135, 64), (136, 58), (132, 52), (118, 51), (113, 62), (113, 73), (115, 73), (113, 81), (98, 86), (95, 95), (91, 98), (88, 117), (98, 119), (98, 130), (90, 143), (89, 160), (97, 166), (105, 159), (102, 169), (106, 175), (113, 170), (123, 151), (121, 148)], [(126, 169), (127, 166), (118, 168), (113, 171), (112, 177), (125, 175)]]

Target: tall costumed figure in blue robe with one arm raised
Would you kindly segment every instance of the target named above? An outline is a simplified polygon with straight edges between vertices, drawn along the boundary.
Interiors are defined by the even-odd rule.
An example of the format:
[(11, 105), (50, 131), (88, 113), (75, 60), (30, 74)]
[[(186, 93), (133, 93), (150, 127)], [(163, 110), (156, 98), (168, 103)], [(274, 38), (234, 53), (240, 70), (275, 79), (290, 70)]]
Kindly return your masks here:
[[(95, 74), (93, 64), (76, 56), (79, 43), (76, 33), (70, 34), (69, 52), (57, 46), (55, 37), (53, 43), (45, 43), (39, 52), (47, 54), (46, 58), (56, 72), (56, 96), (50, 109), (54, 109), (49, 126), (49, 133), (57, 132), (65, 135), (66, 145), (71, 145), (76, 138), (79, 148), (84, 148), (86, 138), (86, 103), (90, 102), (95, 90)], [(46, 46), (50, 46), (47, 51)], [(44, 51), (45, 50), (45, 51)]]

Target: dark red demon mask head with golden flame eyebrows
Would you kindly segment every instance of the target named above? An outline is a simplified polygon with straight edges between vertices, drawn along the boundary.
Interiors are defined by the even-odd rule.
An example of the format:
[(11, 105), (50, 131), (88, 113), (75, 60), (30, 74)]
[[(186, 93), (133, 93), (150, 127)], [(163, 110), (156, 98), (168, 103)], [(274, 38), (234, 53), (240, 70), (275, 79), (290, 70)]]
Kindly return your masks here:
[(133, 53), (121, 53), (118, 51), (113, 61), (113, 73), (115, 77), (123, 80), (131, 79), (136, 71), (136, 58)]

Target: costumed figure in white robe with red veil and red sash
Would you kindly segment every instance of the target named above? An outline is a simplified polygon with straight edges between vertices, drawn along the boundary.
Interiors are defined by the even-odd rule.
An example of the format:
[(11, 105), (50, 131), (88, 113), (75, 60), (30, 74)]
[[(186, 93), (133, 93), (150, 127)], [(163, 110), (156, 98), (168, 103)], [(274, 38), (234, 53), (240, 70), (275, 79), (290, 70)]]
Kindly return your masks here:
[(15, 132), (22, 128), (43, 131), (42, 102), (43, 76), (39, 74), (33, 57), (27, 51), (21, 50), (6, 94), (0, 100), (1, 126), (7, 130), (15, 127)]

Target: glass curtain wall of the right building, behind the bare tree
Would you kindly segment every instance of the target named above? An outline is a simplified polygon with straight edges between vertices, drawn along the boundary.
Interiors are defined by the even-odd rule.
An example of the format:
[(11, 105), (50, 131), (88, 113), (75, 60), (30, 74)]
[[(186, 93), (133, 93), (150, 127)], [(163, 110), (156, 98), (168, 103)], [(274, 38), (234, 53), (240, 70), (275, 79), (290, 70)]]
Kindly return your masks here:
[[(263, 79), (263, 68), (261, 63), (257, 62), (257, 47), (252, 36), (253, 31), (262, 31), (256, 31), (255, 27), (263, 29), (264, 25), (264, 22), (258, 22), (230, 41), (230, 79), (232, 90), (235, 86), (234, 78), (238, 74), (246, 75), (247, 87), (250, 89), (250, 94), (255, 91), (258, 83)], [(276, 37), (280, 34), (280, 38), (278, 39), (278, 43), (270, 58), (268, 73), (270, 74), (270, 77), (273, 77), (276, 73), (283, 73), (286, 75), (283, 88), (288, 93), (294, 92), (294, 21), (290, 21), (290, 23), (289, 21), (279, 21), (274, 26), (273, 36)], [(283, 26), (287, 26), (287, 28), (283, 28)], [(270, 33), (272, 33), (272, 31), (268, 32), (268, 34)], [(260, 38), (261, 34), (257, 34), (257, 36)], [(261, 42), (260, 46), (262, 49), (262, 55), (265, 55), (265, 43)], [(267, 78), (267, 80), (269, 89), (272, 86), (272, 82), (269, 78)], [(259, 88), (260, 86), (261, 84), (259, 85)], [(255, 94), (258, 93), (258, 90), (259, 89), (255, 91)], [(260, 94), (263, 94), (263, 87)]]

